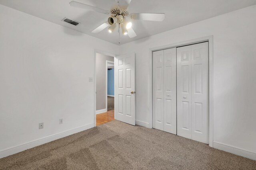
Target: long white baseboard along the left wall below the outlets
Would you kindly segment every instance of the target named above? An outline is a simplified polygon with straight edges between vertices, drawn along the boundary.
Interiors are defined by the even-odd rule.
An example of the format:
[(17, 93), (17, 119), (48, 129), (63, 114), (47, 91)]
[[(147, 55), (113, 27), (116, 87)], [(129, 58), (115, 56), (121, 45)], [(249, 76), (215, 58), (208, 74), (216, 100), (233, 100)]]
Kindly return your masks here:
[(54, 140), (72, 135), (74, 133), (78, 133), (78, 132), (90, 129), (92, 127), (94, 127), (94, 123), (91, 123), (89, 125), (84, 125), (84, 126), (81, 126), (81, 127), (77, 127), (77, 128), (74, 128), (74, 129), (70, 129), (68, 131), (64, 131), (64, 132), (61, 132), (61, 133), (56, 133), (54, 135), (50, 135), (50, 136), (47, 136), (47, 137), (36, 139), (36, 140), (30, 141), (30, 142), (26, 142), (26, 143), (23, 143), (21, 145), (17, 145), (17, 146), (14, 146), (14, 147), (10, 147), (10, 148), (7, 148), (7, 149), (0, 150), (0, 158), (4, 158), (6, 156), (16, 154), (18, 152), (22, 152), (22, 151), (30, 149), (30, 148), (34, 148), (34, 147), (37, 147), (39, 145), (43, 145), (45, 143), (48, 143), (48, 142), (51, 142), (51, 141), (54, 141)]

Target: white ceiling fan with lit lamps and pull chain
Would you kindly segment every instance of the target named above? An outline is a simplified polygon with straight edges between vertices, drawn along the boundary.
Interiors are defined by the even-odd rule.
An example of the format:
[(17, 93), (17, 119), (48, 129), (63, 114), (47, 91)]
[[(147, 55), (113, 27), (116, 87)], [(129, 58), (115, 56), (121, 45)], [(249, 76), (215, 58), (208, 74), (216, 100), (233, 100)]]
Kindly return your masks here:
[[(90, 10), (94, 12), (99, 12), (102, 14), (110, 14), (108, 21), (104, 22), (102, 25), (98, 26), (92, 31), (92, 33), (99, 33), (106, 27), (108, 27), (108, 32), (112, 33), (116, 26), (118, 25), (118, 32), (120, 35), (120, 27), (122, 29), (122, 34), (130, 38), (136, 37), (136, 33), (132, 29), (132, 20), (147, 20), (147, 21), (163, 21), (165, 14), (163, 13), (132, 13), (129, 14), (127, 8), (131, 0), (116, 0), (118, 3), (117, 8), (110, 11), (97, 8), (95, 6), (90, 6), (88, 4), (82, 4), (80, 2), (71, 1), (69, 4), (72, 7), (82, 8), (85, 10)], [(120, 42), (119, 42), (120, 43)]]

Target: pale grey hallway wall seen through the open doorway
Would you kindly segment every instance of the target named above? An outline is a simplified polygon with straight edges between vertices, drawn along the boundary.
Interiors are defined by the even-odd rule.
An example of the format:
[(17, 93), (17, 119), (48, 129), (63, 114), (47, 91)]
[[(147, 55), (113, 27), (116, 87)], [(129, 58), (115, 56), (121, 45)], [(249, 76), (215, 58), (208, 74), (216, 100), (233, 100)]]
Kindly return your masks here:
[(113, 61), (114, 57), (96, 53), (96, 110), (106, 107), (106, 61)]

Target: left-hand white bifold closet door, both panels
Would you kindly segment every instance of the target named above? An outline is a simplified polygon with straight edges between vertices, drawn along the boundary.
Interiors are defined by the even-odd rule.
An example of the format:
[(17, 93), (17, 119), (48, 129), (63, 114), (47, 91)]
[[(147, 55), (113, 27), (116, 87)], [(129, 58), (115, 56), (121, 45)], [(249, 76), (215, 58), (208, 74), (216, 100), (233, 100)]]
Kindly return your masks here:
[(176, 48), (153, 52), (153, 128), (176, 134)]

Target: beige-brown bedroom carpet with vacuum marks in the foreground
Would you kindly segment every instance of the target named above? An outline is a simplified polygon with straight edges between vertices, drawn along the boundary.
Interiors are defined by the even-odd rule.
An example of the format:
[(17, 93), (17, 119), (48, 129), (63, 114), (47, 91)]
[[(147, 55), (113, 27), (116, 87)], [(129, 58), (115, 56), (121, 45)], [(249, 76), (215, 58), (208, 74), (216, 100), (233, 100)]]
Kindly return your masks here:
[(111, 121), (0, 159), (1, 170), (252, 170), (256, 161), (156, 129)]

